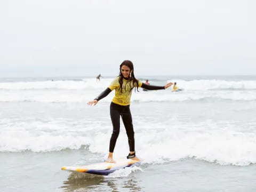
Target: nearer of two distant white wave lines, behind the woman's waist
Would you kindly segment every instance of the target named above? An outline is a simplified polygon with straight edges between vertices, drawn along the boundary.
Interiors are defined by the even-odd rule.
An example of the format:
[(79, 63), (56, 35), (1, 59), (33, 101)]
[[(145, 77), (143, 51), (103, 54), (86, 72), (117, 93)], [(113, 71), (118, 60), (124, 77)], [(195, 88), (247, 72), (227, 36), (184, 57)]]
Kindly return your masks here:
[[(1, 91), (0, 102), (88, 102), (99, 95), (101, 90), (15, 90)], [(114, 91), (100, 102), (111, 102), (114, 97)], [(254, 90), (246, 91), (180, 91), (171, 90), (142, 91), (133, 93), (131, 102), (182, 102), (182, 101), (256, 101), (256, 92)]]

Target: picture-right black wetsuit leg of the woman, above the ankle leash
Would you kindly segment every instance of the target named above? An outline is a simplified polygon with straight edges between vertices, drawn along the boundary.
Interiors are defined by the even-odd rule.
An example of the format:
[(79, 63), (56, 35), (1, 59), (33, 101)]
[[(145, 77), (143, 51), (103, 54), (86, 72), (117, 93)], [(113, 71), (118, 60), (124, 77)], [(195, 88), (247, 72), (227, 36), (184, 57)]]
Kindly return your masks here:
[(130, 151), (134, 151), (134, 131), (133, 131), (132, 114), (130, 111), (130, 106), (124, 107), (121, 113), (121, 117), (123, 119), (124, 127), (128, 137)]

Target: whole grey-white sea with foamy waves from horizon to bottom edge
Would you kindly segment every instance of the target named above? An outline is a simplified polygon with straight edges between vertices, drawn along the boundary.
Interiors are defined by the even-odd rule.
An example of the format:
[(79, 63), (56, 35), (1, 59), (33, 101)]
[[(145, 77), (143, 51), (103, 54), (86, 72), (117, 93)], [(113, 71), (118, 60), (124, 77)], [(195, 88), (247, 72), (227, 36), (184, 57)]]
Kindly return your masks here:
[[(255, 191), (256, 76), (139, 77), (183, 91), (133, 92), (138, 167), (61, 171), (106, 160), (114, 77), (0, 78), (0, 191)], [(129, 146), (121, 123), (114, 158)]]

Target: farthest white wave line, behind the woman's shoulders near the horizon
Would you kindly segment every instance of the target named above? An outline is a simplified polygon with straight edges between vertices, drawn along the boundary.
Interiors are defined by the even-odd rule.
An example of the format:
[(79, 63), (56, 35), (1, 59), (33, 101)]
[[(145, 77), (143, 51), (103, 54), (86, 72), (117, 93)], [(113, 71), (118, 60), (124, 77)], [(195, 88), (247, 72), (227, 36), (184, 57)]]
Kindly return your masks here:
[[(97, 90), (105, 89), (113, 78), (95, 81), (95, 78), (74, 79), (68, 81), (38, 81), (38, 82), (1, 82), (0, 90)], [(167, 82), (177, 82), (184, 90), (256, 90), (256, 81), (223, 81), (223, 80), (191, 80), (170, 79), (169, 81), (153, 80), (152, 85), (164, 85)]]

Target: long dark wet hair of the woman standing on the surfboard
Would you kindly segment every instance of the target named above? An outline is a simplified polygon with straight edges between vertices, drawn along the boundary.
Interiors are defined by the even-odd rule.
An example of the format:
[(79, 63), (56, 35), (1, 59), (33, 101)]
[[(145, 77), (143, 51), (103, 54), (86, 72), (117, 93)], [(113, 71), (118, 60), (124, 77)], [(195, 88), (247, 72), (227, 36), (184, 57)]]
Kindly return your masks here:
[[(134, 76), (134, 69), (133, 69), (133, 63), (132, 61), (129, 61), (129, 60), (125, 60), (121, 63), (120, 65), (120, 73), (119, 73), (119, 79), (118, 79), (118, 82), (120, 84), (120, 87), (119, 87), (119, 90), (121, 89), (121, 93), (122, 93), (122, 90), (123, 90), (123, 79), (124, 79), (124, 76), (122, 74), (122, 71), (121, 71), (121, 68), (123, 66), (127, 66), (130, 68), (130, 70), (132, 70), (132, 73), (130, 74), (130, 78), (129, 78), (129, 81), (130, 81), (130, 90), (129, 91), (132, 91), (133, 87), (137, 87), (137, 91), (138, 90), (138, 87), (139, 87), (139, 81), (138, 79), (135, 78)], [(133, 86), (132, 86), (133, 85)], [(136, 91), (136, 88), (135, 90)]]

